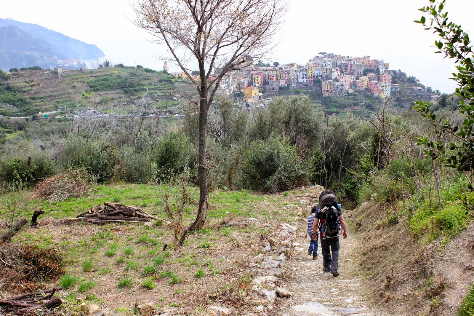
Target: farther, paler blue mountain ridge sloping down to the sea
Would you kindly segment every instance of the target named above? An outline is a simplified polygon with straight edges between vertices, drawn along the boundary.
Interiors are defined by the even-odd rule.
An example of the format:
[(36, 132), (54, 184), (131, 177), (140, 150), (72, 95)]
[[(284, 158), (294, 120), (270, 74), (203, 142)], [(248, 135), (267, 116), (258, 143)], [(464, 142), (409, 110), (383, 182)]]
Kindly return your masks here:
[(104, 53), (97, 46), (81, 42), (80, 40), (65, 36), (48, 28), (36, 24), (18, 22), (12, 19), (0, 19), (0, 27), (8, 25), (16, 26), (22, 31), (31, 33), (45, 40), (55, 46), (66, 59), (91, 59), (104, 56)]

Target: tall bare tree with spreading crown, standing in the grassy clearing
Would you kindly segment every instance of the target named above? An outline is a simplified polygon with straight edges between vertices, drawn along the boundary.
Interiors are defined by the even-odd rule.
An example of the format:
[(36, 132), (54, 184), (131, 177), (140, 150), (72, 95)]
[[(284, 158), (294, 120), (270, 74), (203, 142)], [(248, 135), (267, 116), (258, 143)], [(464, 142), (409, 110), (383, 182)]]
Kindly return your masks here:
[[(199, 93), (199, 206), (188, 229), (200, 229), (207, 216), (206, 127), (208, 111), (223, 77), (252, 66), (268, 55), (272, 37), (282, 25), (287, 0), (138, 0), (136, 25), (165, 44), (173, 61)], [(196, 67), (198, 76), (188, 68)], [(192, 68), (191, 68), (192, 69)]]

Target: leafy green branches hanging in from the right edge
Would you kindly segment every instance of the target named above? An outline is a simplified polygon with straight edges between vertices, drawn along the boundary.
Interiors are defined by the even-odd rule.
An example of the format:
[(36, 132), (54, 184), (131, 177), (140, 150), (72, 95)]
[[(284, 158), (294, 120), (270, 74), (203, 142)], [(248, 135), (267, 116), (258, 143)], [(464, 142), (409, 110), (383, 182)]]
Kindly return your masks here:
[[(435, 40), (435, 46), (439, 49), (435, 53), (444, 53), (445, 57), (455, 59), (457, 74), (453, 73), (453, 80), (458, 84), (456, 95), (461, 96), (458, 105), (459, 113), (465, 116), (460, 123), (452, 120), (437, 118), (431, 109), (429, 102), (416, 101), (414, 108), (421, 116), (435, 127), (435, 139), (430, 137), (418, 138), (418, 144), (428, 147), (425, 153), (432, 160), (439, 159), (448, 167), (464, 171), (469, 182), (472, 183), (474, 170), (474, 54), (472, 51), (469, 35), (452, 21), (448, 21), (447, 12), (444, 11), (446, 0), (440, 2), (429, 0), (429, 5), (419, 9), (427, 13), (429, 20), (424, 16), (419, 21), (414, 21), (433, 30), (438, 34), (439, 40)], [(447, 146), (447, 138), (451, 142)], [(449, 147), (449, 151), (447, 151)], [(474, 190), (470, 185), (470, 189)]]

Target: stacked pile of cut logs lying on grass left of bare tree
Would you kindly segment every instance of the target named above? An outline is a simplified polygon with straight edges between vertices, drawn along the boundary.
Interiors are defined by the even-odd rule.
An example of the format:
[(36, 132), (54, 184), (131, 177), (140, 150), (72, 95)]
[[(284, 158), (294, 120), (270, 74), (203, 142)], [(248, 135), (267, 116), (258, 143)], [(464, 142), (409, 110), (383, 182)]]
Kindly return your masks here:
[(94, 224), (104, 223), (147, 223), (152, 220), (163, 220), (162, 218), (148, 214), (136, 206), (108, 203), (104, 206), (94, 206), (89, 211), (77, 215), (76, 218), (67, 218), (66, 220), (78, 221), (86, 220)]

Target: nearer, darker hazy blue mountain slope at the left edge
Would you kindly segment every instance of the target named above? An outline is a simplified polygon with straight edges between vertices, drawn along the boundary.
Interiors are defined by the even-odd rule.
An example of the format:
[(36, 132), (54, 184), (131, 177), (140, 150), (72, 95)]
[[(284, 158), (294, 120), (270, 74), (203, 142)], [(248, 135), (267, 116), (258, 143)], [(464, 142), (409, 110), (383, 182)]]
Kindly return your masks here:
[(0, 27), (0, 69), (57, 66), (55, 60), (65, 56), (55, 46), (15, 26)]

